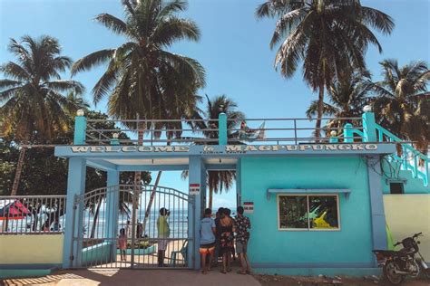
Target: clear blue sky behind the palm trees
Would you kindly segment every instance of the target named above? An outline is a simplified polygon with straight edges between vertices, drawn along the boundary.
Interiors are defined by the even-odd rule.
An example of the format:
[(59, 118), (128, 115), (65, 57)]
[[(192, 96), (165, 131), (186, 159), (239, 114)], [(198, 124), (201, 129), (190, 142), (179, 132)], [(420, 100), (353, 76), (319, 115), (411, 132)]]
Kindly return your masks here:
[[(273, 68), (275, 51), (269, 40), (275, 20), (255, 17), (256, 7), (263, 0), (190, 0), (182, 16), (191, 18), (200, 27), (198, 43), (181, 42), (172, 52), (197, 59), (207, 73), (207, 85), (200, 95), (210, 97), (225, 94), (239, 104), (247, 118), (304, 118), (311, 100), (317, 99), (301, 71), (284, 79)], [(376, 33), (383, 52), (369, 47), (367, 68), (374, 80), (380, 79), (378, 62), (395, 58), (400, 65), (410, 61), (429, 62), (430, 1), (428, 0), (362, 0), (392, 16), (396, 28), (391, 35)], [(124, 39), (93, 21), (97, 14), (122, 16), (119, 0), (0, 0), (0, 62), (14, 60), (7, 52), (10, 38), (24, 34), (56, 37), (63, 54), (78, 60), (84, 55), (115, 48)], [(74, 79), (86, 87), (85, 99), (92, 101), (91, 89), (103, 72), (103, 67), (78, 74)], [(68, 75), (66, 75), (67, 77)], [(106, 101), (96, 110), (105, 111)], [(155, 177), (155, 174), (153, 174)], [(161, 185), (186, 191), (188, 182), (179, 172), (165, 172)], [(234, 207), (235, 189), (215, 195), (214, 206)]]

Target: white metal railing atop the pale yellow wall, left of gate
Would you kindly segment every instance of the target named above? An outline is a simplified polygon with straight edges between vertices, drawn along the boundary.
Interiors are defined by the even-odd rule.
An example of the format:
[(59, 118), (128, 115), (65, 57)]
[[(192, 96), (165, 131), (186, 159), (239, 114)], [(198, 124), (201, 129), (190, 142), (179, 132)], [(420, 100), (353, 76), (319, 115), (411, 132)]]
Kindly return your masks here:
[(0, 235), (64, 233), (65, 195), (0, 196)]

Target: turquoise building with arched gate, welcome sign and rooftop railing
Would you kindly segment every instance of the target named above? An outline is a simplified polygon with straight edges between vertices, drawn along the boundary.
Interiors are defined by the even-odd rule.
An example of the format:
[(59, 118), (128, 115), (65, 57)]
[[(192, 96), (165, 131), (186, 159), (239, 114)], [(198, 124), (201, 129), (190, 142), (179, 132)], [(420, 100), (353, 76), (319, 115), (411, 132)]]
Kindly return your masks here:
[[(62, 267), (156, 268), (151, 255), (166, 244), (167, 250), (161, 249), (165, 267), (199, 269), (207, 171), (234, 170), (238, 202), (245, 205), (252, 224), (249, 258), (256, 272), (379, 272), (372, 250), (388, 247), (385, 195), (428, 198), (429, 159), (377, 125), (375, 115), (366, 111), (362, 118), (351, 119), (361, 122), (358, 126), (348, 123), (318, 140), (298, 137), (298, 119), (283, 119), (294, 123), (292, 129), (281, 129), (292, 131), (292, 137), (251, 138), (256, 130), (228, 130), (226, 115), (220, 113), (218, 138), (191, 140), (195, 144), (183, 138), (125, 142), (107, 135), (114, 130), (93, 128), (93, 122), (79, 114), (73, 146), (55, 148), (56, 156), (69, 159)], [(136, 132), (140, 123), (148, 122), (123, 131)], [(242, 139), (229, 138), (232, 131)], [(106, 171), (106, 187), (84, 193), (86, 167)], [(187, 170), (190, 189), (123, 186), (119, 181), (124, 171), (160, 170)], [(105, 227), (103, 235), (93, 239), (81, 230), (85, 205), (99, 196), (105, 202)], [(116, 240), (123, 220), (117, 205), (124, 201), (132, 204), (131, 256), (119, 262)], [(160, 238), (155, 228), (147, 232), (144, 225), (147, 235), (136, 236), (137, 222), (146, 224), (164, 206), (171, 209), (172, 234)], [(180, 234), (180, 229), (185, 231)], [(151, 246), (142, 251), (142, 243)]]

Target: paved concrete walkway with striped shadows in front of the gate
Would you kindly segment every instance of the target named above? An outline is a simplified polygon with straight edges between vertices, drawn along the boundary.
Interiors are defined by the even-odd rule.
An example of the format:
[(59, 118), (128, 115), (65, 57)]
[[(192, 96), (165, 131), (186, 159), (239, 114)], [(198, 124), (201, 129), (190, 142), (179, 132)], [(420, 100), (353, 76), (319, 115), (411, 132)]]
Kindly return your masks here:
[(76, 270), (61, 271), (40, 278), (10, 279), (5, 285), (204, 285), (204, 286), (260, 286), (250, 275), (233, 272), (222, 274), (214, 269), (206, 275), (187, 270)]

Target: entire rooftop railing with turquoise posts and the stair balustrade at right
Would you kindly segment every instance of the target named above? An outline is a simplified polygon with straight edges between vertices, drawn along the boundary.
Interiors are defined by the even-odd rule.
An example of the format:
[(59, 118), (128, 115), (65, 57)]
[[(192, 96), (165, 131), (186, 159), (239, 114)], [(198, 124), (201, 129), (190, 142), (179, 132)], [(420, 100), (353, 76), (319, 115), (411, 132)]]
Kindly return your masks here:
[[(361, 117), (317, 119), (86, 119), (75, 118), (74, 145), (228, 145), (228, 144), (312, 144), (395, 143), (402, 152), (393, 160), (413, 176), (429, 184), (429, 158), (412, 142), (396, 137), (376, 124), (375, 114), (366, 108)], [(113, 129), (103, 129), (113, 123)], [(319, 132), (320, 137), (317, 136)]]

